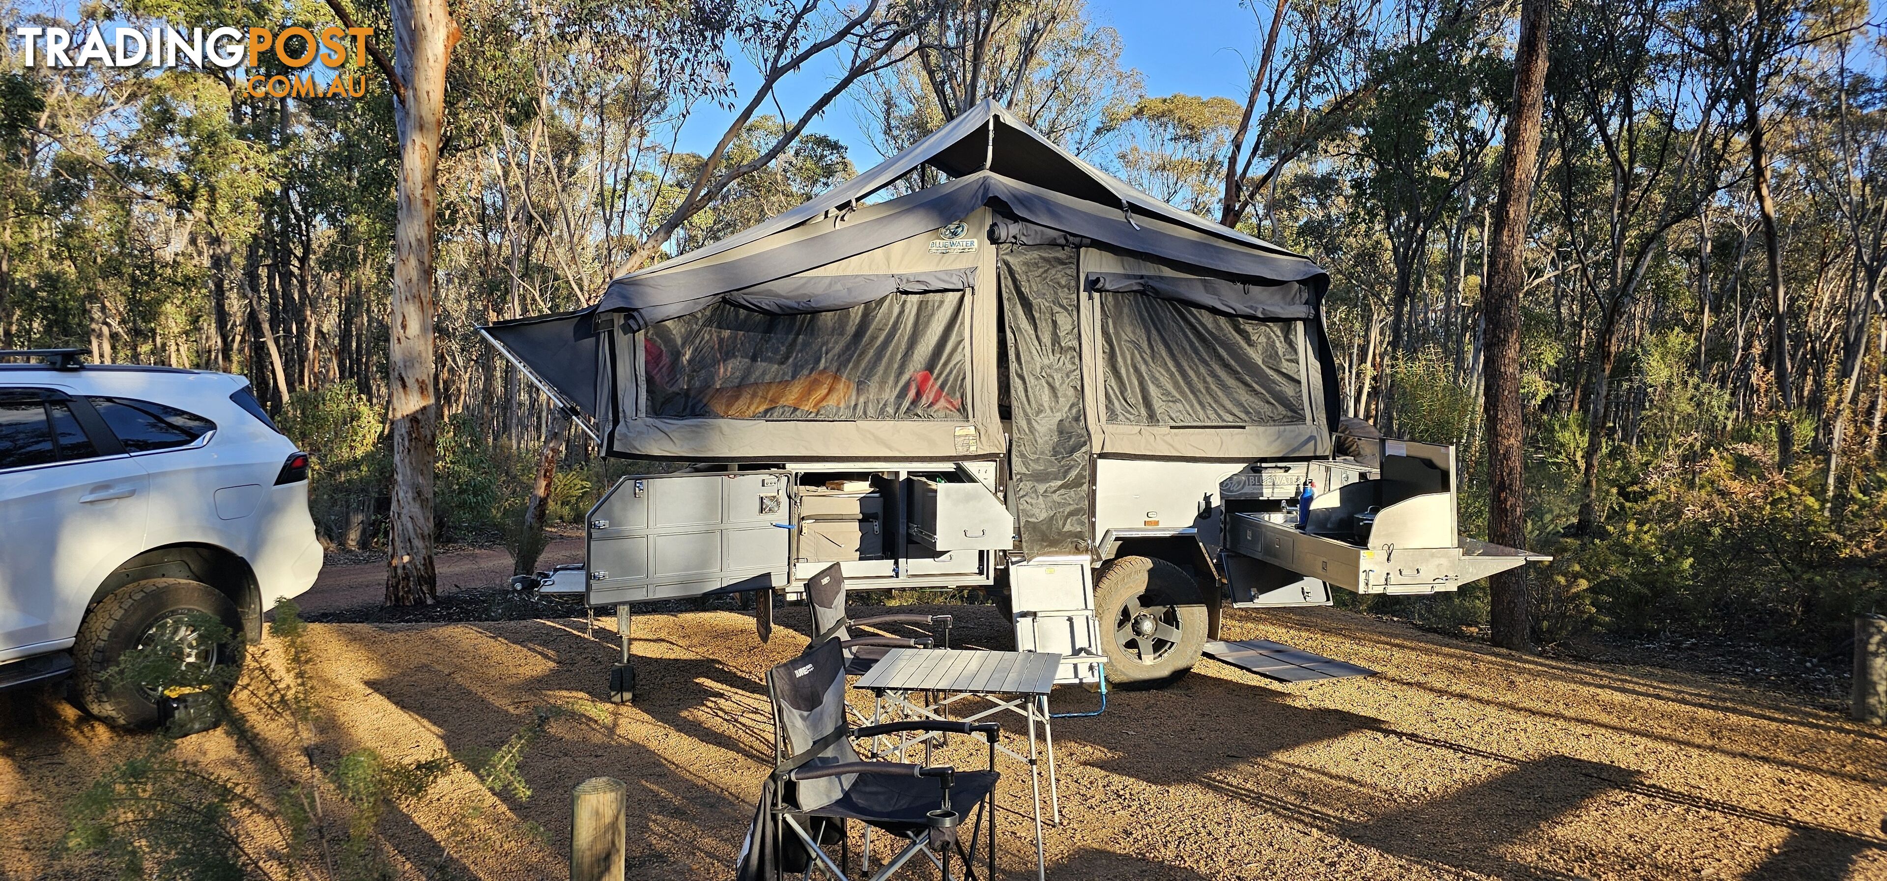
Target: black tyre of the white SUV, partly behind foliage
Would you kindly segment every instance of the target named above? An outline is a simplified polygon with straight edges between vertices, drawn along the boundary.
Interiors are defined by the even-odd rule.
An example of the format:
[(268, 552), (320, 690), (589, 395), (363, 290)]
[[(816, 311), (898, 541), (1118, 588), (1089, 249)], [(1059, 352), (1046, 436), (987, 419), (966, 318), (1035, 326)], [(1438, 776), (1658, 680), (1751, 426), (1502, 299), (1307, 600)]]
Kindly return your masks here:
[[(72, 647), (72, 692), (91, 715), (125, 728), (155, 728), (164, 711), (132, 683), (109, 683), (119, 655), (138, 645), (151, 624), (179, 611), (215, 615), (232, 634), (242, 632), (236, 604), (202, 581), (155, 577), (125, 585), (92, 606)], [(242, 662), (232, 645), (217, 645), (217, 664)]]

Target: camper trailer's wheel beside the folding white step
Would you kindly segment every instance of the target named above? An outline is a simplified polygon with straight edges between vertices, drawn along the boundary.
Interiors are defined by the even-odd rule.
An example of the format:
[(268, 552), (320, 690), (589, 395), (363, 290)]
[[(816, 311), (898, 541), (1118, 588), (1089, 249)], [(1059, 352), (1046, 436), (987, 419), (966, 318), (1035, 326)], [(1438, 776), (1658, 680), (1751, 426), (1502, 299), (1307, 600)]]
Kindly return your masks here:
[(1198, 585), (1166, 560), (1121, 557), (1102, 566), (1094, 617), (1110, 685), (1157, 689), (1176, 683), (1206, 645), (1206, 602)]

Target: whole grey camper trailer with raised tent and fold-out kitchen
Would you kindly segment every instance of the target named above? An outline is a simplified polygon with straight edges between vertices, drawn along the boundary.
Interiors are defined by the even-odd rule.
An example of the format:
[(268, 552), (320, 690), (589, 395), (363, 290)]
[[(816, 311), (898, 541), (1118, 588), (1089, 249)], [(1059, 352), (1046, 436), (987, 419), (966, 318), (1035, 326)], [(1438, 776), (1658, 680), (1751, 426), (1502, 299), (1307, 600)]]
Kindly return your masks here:
[(1093, 658), (1062, 681), (1159, 683), (1223, 604), (1528, 560), (1459, 536), (1451, 447), (1338, 438), (1327, 287), (985, 102), (587, 309), (481, 330), (606, 455), (689, 464), (596, 502), (593, 607), (794, 598), (836, 562), (989, 590), (1019, 647)]

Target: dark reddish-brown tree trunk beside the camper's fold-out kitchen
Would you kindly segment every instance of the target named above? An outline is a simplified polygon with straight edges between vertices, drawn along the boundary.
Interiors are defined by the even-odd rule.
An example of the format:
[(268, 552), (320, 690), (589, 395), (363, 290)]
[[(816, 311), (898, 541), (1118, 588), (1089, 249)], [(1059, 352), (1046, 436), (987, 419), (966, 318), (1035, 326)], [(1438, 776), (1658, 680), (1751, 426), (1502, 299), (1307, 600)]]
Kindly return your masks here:
[[(1495, 238), (1489, 253), (1487, 291), (1487, 540), (1527, 545), (1521, 440), (1521, 294), (1527, 289), (1527, 221), (1534, 170), (1540, 157), (1540, 111), (1545, 98), (1547, 0), (1521, 4), (1521, 34), (1513, 70), (1513, 115), (1508, 117), (1500, 157), (1500, 196), (1495, 204)], [(1493, 577), (1493, 641), (1506, 649), (1532, 649), (1532, 602), (1525, 570)]]

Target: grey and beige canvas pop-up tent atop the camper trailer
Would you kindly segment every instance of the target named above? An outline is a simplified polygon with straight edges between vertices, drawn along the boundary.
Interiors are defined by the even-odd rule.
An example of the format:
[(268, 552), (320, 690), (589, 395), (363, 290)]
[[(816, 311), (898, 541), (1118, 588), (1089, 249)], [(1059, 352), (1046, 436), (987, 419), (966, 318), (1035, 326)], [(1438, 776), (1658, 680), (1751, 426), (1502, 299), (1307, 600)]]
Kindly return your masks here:
[[(944, 183), (868, 202), (908, 172)], [(759, 226), (485, 328), (608, 455), (1010, 455), (1023, 549), (1085, 553), (1091, 458), (1330, 451), (1302, 255), (1147, 196), (983, 102)]]

